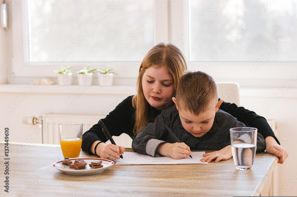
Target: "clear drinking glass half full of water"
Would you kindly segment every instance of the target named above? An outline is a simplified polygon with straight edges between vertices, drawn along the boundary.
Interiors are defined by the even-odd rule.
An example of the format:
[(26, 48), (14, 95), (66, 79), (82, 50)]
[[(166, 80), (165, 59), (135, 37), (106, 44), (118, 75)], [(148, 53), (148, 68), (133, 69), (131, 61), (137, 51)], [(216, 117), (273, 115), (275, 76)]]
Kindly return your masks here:
[(252, 127), (230, 129), (232, 156), (236, 169), (251, 169), (257, 149), (257, 130)]

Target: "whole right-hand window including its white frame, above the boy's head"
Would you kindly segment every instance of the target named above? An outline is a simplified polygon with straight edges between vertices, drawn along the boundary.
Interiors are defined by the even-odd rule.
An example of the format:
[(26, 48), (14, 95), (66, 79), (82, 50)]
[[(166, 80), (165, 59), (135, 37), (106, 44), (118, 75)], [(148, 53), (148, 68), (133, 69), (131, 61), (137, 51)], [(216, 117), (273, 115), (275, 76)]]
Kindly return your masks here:
[[(297, 29), (296, 0), (263, 0), (260, 1), (260, 4), (257, 1), (242, 0), (184, 0), (170, 2), (170, 41), (180, 44), (179, 47), (186, 55), (190, 70), (204, 71), (213, 76), (216, 81), (236, 81), (240, 87), (282, 87), (295, 77), (293, 73), (297, 72), (297, 57), (294, 55), (297, 46), (297, 36), (294, 33)], [(281, 6), (279, 2), (282, 4)], [(254, 17), (256, 9), (260, 9), (258, 15), (263, 15), (268, 23), (281, 24), (280, 27), (282, 28), (265, 24), (268, 29), (261, 29), (264, 32), (263, 35), (267, 36), (267, 40), (270, 40), (270, 42), (257, 43), (253, 41), (257, 37), (256, 34), (256, 37), (244, 36), (244, 33), (248, 32), (248, 28), (244, 32), (240, 32), (243, 31), (240, 28), (241, 25), (244, 25), (244, 20), (241, 19), (243, 14), (240, 12), (240, 9), (237, 10), (237, 7), (242, 7), (243, 3), (245, 7), (243, 9), (244, 13), (250, 15), (253, 22), (249, 22), (251, 25), (246, 26), (255, 31), (257, 30), (257, 33), (260, 32), (259, 28), (261, 28), (263, 23), (259, 24), (258, 18)], [(250, 8), (251, 6), (253, 7), (252, 9)], [(230, 8), (229, 10), (228, 8), (228, 12), (225, 14), (222, 11), (226, 9), (225, 7), (236, 7), (236, 9)], [(198, 9), (195, 10), (195, 8)], [(284, 11), (284, 9), (287, 11)], [(200, 15), (203, 16), (205, 12), (208, 12), (208, 15), (206, 14), (207, 17), (202, 18), (203, 21), (201, 21)], [(231, 19), (234, 18), (236, 22), (234, 24), (240, 24), (227, 26), (229, 29), (233, 28), (234, 33), (240, 32), (238, 39), (236, 38), (235, 42), (231, 42), (232, 44), (228, 42), (232, 41), (228, 37), (228, 31), (224, 32), (222, 30), (232, 20), (222, 20), (220, 18), (222, 14), (220, 13), (224, 13)], [(275, 17), (275, 15), (279, 17)], [(194, 24), (194, 21), (197, 24)], [(290, 23), (290, 25), (287, 25), (287, 23)], [(257, 24), (259, 27), (254, 27), (254, 24)], [(194, 28), (195, 31), (193, 30)], [(217, 38), (220, 36), (220, 32), (223, 32), (221, 39)], [(261, 35), (260, 33), (258, 34)], [(230, 34), (230, 36), (232, 35)], [(263, 37), (263, 35), (261, 36)], [(181, 37), (184, 39), (181, 39)], [(285, 41), (281, 44), (282, 37)], [(227, 47), (225, 44), (230, 45)], [(274, 47), (275, 44), (279, 46)], [(221, 49), (222, 45), (226, 49)], [(270, 53), (271, 49), (269, 47), (271, 46), (274, 49), (278, 47), (276, 50), (271, 48), (274, 51), (273, 54)], [(222, 54), (216, 54), (217, 50), (222, 50)], [(241, 53), (245, 53), (245, 56), (241, 56)], [(214, 59), (213, 54), (219, 57)], [(294, 87), (296, 86), (297, 84), (294, 84)]]

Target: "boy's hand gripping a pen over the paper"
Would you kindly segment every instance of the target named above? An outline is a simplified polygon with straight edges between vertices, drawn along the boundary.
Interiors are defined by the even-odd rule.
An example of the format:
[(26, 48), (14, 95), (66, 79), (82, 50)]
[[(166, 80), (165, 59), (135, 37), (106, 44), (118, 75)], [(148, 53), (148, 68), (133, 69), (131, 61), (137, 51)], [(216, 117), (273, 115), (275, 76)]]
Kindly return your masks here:
[(164, 156), (170, 156), (174, 159), (182, 159), (191, 154), (190, 147), (184, 142), (181, 143), (163, 143), (157, 148), (157, 152)]

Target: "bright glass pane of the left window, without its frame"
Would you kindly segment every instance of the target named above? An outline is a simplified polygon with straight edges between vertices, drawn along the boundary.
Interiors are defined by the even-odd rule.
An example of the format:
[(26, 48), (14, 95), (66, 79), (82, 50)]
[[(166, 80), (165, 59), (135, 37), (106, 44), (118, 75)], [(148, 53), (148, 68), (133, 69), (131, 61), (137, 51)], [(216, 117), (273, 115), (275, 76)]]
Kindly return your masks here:
[(27, 0), (29, 62), (142, 61), (153, 1)]

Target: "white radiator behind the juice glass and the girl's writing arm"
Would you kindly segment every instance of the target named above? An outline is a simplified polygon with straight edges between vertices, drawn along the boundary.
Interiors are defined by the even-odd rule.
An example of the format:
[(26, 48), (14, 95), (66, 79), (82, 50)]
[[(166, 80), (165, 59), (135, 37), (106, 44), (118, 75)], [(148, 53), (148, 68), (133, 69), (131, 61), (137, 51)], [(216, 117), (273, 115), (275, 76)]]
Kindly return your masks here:
[[(74, 115), (74, 114), (57, 114), (48, 113), (43, 115), (42, 124), (42, 143), (43, 144), (60, 144), (58, 123), (66, 121), (83, 122), (83, 133), (88, 131), (94, 124), (105, 118), (104, 115)], [(114, 136), (113, 140), (116, 145), (131, 148), (132, 139), (127, 134)], [(110, 143), (110, 141), (106, 142)]]

